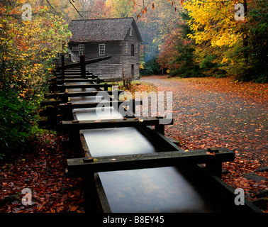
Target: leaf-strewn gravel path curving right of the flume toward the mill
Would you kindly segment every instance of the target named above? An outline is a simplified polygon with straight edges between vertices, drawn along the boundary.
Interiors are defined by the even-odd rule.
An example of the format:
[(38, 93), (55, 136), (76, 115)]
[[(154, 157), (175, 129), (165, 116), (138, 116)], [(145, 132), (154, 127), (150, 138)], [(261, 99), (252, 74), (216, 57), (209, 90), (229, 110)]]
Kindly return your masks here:
[(141, 80), (158, 91), (172, 92), (174, 125), (167, 126), (166, 134), (182, 141), (184, 149), (227, 147), (267, 166), (267, 104), (216, 91), (208, 84), (157, 77)]

